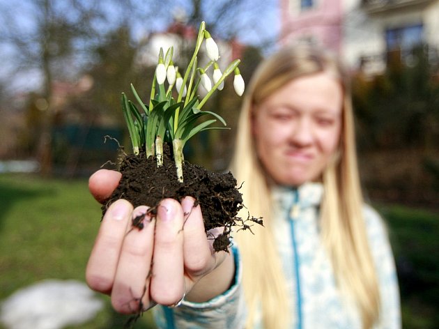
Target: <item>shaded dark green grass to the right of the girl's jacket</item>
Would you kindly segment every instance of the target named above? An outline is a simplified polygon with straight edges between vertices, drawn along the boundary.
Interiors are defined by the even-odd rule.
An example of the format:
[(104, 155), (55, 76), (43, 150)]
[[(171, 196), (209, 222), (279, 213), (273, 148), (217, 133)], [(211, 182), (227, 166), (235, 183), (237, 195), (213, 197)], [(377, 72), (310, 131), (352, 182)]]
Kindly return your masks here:
[(404, 328), (439, 328), (439, 211), (377, 206), (398, 268)]

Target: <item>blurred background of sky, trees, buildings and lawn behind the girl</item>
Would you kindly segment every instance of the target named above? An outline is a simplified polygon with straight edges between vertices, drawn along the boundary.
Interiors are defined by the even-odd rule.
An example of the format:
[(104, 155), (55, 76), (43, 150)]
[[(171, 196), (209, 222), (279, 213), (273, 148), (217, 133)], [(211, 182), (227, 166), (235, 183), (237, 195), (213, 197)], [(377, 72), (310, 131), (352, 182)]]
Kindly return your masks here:
[[(174, 45), (184, 68), (204, 20), (222, 69), (242, 59), (246, 82), (289, 43), (341, 56), (364, 191), (396, 257), (403, 326), (439, 328), (438, 17), (439, 0), (0, 0), (0, 300), (49, 278), (84, 282), (100, 219), (86, 178), (116, 160), (105, 136), (130, 150), (121, 92), (132, 83), (148, 98), (160, 47)], [(185, 157), (222, 171), (240, 108), (230, 79), (208, 108), (231, 130), (199, 134)], [(121, 328), (127, 318), (98, 298), (105, 306), (93, 319), (65, 328)], [(137, 327), (154, 328), (151, 315)]]

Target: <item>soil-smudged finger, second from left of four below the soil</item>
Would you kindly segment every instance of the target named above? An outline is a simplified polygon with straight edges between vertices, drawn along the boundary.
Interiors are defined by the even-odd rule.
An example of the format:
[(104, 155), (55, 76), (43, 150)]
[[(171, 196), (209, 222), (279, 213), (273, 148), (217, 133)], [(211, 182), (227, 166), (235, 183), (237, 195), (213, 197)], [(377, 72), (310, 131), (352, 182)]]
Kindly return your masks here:
[(118, 261), (111, 303), (118, 312), (130, 314), (150, 306), (149, 281), (153, 256), (155, 221), (147, 214), (148, 207), (134, 209), (132, 217), (144, 216), (143, 228), (128, 228)]

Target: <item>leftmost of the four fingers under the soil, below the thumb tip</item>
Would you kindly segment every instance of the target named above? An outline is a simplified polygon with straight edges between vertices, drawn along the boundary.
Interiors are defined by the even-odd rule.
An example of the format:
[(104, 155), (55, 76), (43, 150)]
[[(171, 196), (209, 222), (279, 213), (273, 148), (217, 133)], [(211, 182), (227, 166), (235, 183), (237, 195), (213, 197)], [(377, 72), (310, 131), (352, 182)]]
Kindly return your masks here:
[(132, 205), (120, 199), (111, 204), (102, 219), (86, 268), (86, 281), (95, 291), (111, 291), (131, 213)]

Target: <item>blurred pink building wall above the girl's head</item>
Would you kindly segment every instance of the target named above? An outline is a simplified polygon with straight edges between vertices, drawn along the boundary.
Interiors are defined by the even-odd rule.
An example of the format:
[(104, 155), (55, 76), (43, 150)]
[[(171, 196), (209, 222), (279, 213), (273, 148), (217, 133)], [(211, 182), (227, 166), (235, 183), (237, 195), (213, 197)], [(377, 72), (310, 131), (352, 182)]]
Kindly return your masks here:
[[(300, 10), (300, 0), (279, 0), (281, 12), (281, 45), (311, 40), (318, 45), (341, 52), (341, 0), (313, 0), (314, 6)], [(291, 10), (290, 2), (297, 9)]]

